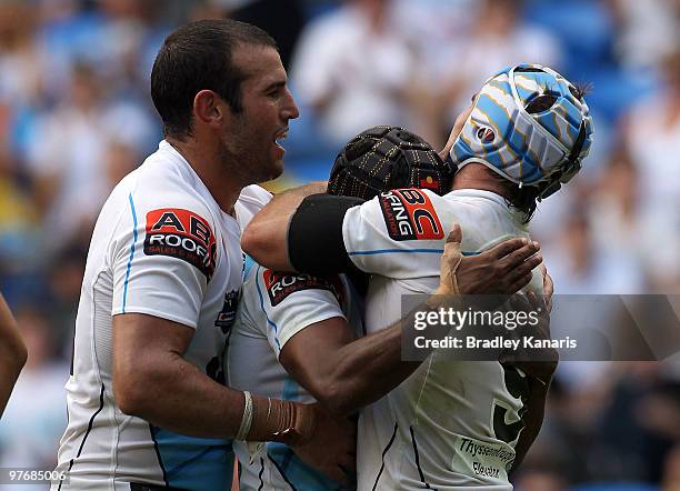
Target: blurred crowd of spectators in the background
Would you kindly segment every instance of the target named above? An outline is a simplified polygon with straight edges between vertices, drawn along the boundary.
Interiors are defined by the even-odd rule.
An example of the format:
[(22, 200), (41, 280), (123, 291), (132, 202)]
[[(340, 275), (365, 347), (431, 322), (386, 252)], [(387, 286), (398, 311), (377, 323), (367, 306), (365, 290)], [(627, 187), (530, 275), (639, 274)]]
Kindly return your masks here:
[[(93, 222), (162, 138), (149, 73), (164, 36), (208, 17), (280, 44), (302, 116), (274, 189), (323, 179), (372, 124), (443, 146), (510, 64), (589, 84), (591, 156), (531, 223), (556, 292), (680, 293), (680, 0), (3, 0), (0, 290), (29, 362), (0, 423), (0, 467), (56, 462)], [(564, 363), (518, 489), (680, 490), (674, 360)]]

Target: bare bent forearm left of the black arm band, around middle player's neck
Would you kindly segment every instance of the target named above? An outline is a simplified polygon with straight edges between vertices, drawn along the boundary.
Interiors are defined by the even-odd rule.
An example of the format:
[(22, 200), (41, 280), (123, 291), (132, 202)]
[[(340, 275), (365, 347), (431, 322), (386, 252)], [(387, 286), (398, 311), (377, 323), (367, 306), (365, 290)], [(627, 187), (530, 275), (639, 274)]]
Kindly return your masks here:
[(326, 181), (317, 181), (276, 194), (243, 231), (243, 251), (267, 268), (291, 271), (287, 243), (290, 220), (304, 198), (324, 193), (326, 188)]

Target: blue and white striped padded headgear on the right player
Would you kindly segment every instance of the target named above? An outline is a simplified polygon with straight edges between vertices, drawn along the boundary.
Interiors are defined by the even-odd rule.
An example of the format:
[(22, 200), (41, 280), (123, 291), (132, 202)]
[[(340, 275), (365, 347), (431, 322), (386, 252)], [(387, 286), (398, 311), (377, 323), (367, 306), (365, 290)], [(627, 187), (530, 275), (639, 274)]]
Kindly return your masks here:
[(520, 64), (487, 80), (450, 157), (459, 169), (482, 163), (547, 198), (581, 169), (591, 143), (592, 119), (579, 91), (554, 70)]

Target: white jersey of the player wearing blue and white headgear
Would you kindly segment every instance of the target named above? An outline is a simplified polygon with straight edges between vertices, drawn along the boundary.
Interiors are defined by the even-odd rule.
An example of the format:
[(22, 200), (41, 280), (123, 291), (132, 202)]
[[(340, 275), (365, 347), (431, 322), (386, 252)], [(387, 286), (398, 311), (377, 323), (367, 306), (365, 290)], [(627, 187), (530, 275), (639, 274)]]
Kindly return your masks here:
[[(366, 301), (366, 329), (401, 317), (401, 295), (431, 293), (453, 222), (463, 253), (510, 237), (528, 237), (521, 214), (498, 194), (458, 190), (396, 190), (350, 209), (343, 222), (348, 253), (374, 273)], [(540, 275), (531, 288), (538, 292)], [(516, 370), (498, 362), (450, 361), (433, 352), (398, 388), (367, 407), (359, 420), (359, 490), (511, 490), (508, 470), (522, 428)]]

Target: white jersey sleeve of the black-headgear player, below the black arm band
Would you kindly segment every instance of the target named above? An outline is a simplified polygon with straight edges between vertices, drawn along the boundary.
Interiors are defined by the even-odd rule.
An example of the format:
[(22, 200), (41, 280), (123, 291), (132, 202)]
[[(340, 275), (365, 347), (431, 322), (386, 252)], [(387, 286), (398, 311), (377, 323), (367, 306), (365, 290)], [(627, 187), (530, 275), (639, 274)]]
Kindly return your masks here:
[(280, 273), (262, 267), (256, 272), (258, 297), (267, 318), (267, 338), (277, 358), (286, 343), (309, 325), (344, 317), (346, 290), (340, 277)]

